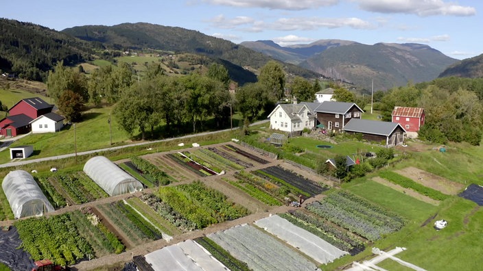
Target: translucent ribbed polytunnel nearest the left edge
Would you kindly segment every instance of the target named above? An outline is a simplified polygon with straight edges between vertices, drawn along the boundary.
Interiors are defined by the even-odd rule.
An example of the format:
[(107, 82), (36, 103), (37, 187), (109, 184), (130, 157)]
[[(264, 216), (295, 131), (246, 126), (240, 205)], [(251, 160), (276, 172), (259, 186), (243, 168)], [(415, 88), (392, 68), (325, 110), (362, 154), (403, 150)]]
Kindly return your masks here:
[(15, 218), (42, 216), (54, 207), (38, 187), (34, 177), (25, 170), (10, 171), (1, 184)]

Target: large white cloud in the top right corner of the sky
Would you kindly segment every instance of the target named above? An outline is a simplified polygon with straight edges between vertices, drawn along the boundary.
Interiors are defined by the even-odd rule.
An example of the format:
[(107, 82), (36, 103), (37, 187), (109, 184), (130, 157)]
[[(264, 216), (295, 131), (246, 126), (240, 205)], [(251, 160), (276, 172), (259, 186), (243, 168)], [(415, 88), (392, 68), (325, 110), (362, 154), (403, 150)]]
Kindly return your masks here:
[(352, 0), (362, 10), (380, 13), (405, 13), (418, 16), (473, 16), (476, 9), (443, 0)]

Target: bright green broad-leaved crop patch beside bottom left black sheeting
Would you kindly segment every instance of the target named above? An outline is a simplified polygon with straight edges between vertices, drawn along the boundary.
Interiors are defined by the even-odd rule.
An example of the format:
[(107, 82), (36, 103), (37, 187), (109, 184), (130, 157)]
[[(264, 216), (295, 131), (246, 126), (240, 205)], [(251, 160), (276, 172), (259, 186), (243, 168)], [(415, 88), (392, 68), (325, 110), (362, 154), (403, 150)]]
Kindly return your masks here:
[(32, 259), (50, 259), (60, 266), (94, 255), (89, 242), (82, 237), (69, 214), (50, 218), (28, 218), (14, 226), (22, 240), (21, 247)]

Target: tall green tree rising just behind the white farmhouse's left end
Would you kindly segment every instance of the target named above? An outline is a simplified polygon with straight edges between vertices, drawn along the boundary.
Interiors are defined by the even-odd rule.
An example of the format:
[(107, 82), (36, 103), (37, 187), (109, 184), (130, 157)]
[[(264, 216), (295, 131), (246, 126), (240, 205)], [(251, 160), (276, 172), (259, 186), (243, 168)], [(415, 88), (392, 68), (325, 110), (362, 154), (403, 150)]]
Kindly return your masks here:
[(274, 102), (280, 101), (285, 96), (285, 73), (278, 62), (270, 60), (261, 67), (258, 82), (268, 90)]

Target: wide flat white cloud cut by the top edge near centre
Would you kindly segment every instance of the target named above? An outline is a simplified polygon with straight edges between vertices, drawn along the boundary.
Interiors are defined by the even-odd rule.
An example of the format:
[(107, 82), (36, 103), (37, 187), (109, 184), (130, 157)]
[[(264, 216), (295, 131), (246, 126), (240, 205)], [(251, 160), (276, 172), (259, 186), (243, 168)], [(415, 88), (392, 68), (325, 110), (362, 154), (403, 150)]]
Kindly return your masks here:
[(336, 5), (339, 0), (202, 0), (212, 5), (235, 8), (268, 8), (270, 10), (309, 10)]

